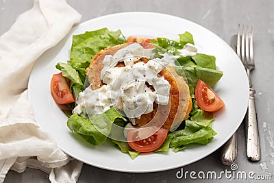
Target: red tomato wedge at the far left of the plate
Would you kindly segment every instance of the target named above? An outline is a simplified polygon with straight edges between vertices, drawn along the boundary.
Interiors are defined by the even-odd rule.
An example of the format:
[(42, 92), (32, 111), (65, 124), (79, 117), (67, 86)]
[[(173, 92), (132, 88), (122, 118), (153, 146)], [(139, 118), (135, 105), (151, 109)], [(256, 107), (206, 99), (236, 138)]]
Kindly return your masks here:
[(53, 74), (51, 78), (51, 95), (58, 104), (74, 102), (73, 94), (69, 90), (69, 82), (62, 73)]

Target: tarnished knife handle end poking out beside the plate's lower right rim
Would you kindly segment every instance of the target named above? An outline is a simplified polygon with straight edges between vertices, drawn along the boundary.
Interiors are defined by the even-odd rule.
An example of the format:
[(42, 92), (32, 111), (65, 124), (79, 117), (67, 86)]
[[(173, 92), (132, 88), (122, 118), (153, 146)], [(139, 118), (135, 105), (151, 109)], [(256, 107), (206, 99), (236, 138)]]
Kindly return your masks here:
[(235, 132), (229, 141), (223, 145), (223, 149), (221, 151), (221, 162), (225, 165), (231, 165), (237, 159), (237, 133)]

